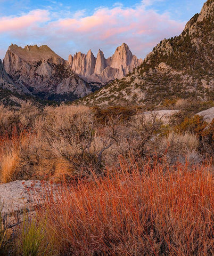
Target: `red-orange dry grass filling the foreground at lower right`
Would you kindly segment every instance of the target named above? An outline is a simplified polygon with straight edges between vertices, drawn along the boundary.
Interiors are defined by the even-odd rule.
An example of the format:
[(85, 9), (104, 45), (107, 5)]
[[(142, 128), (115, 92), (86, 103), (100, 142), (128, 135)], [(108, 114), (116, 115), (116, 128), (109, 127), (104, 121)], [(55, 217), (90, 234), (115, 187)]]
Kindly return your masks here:
[(38, 210), (57, 255), (213, 255), (210, 166), (120, 164)]

